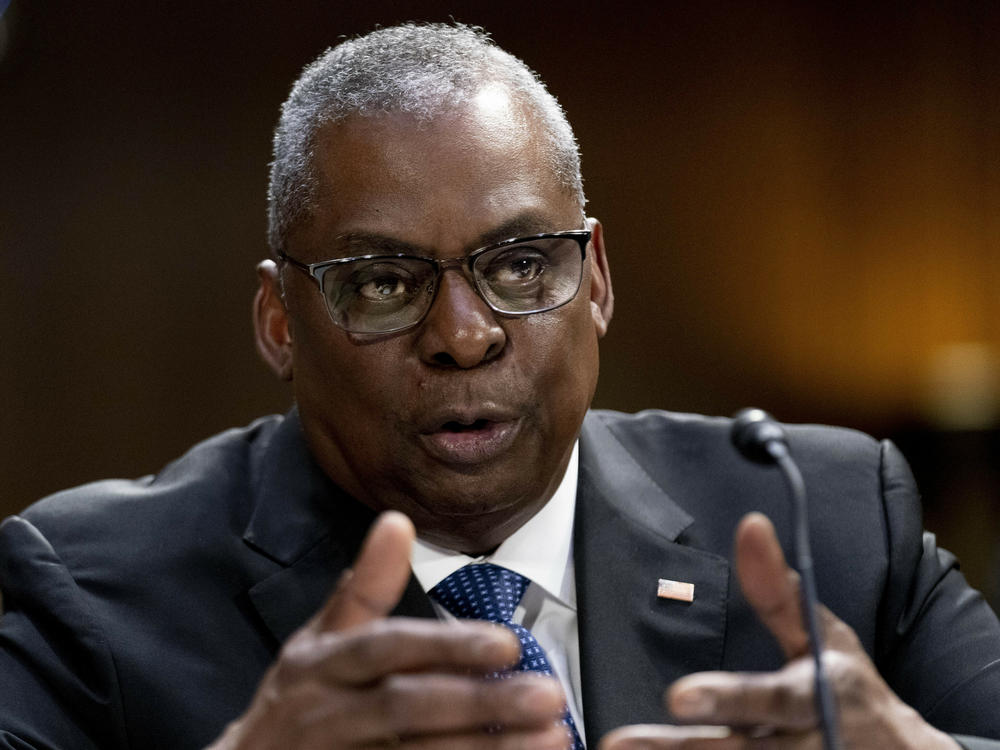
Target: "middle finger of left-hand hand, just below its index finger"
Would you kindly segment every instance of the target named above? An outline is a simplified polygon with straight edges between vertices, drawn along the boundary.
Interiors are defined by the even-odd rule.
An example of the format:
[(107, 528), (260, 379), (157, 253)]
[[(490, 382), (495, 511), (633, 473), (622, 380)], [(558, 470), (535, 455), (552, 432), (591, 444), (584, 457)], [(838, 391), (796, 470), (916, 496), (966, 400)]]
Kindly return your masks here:
[(311, 719), (331, 741), (378, 742), (387, 734), (419, 737), (496, 726), (541, 730), (561, 720), (565, 702), (558, 680), (534, 673), (499, 680), (397, 674), (345, 700), (318, 704)]

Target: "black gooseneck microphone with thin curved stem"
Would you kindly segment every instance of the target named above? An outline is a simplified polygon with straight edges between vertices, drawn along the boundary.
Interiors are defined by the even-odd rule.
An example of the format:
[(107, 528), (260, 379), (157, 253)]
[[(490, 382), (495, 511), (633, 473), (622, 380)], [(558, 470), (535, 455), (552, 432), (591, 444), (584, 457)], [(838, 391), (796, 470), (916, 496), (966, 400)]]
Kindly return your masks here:
[(809, 546), (809, 523), (806, 515), (806, 486), (802, 472), (788, 450), (785, 430), (766, 411), (743, 409), (733, 416), (729, 433), (733, 445), (743, 456), (763, 464), (777, 464), (792, 495), (795, 523), (795, 560), (802, 583), (803, 624), (809, 633), (815, 665), (816, 709), (823, 732), (825, 750), (840, 750), (837, 727), (837, 707), (833, 691), (823, 670), (823, 637), (819, 626), (819, 596), (813, 573), (812, 550)]

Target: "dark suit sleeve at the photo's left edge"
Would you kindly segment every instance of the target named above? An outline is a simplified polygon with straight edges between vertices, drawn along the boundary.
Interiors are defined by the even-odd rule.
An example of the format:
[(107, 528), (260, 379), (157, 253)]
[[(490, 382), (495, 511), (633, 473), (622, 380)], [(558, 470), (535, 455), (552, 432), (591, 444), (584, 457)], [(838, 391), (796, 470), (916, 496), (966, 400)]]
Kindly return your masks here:
[(125, 747), (113, 659), (70, 571), (28, 521), (0, 525), (0, 748)]

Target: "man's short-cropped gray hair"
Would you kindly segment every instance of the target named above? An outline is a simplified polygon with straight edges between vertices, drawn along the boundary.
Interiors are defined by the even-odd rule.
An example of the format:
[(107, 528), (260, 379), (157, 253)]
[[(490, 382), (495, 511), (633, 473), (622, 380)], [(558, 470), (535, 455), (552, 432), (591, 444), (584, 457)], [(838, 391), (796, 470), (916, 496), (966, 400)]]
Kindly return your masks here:
[(576, 137), (538, 75), (500, 49), (482, 29), (461, 24), (404, 24), (331, 47), (302, 71), (281, 107), (268, 185), (267, 239), (282, 249), (289, 231), (316, 207), (316, 134), (350, 116), (403, 112), (430, 120), (470, 101), (484, 83), (500, 83), (541, 125), (559, 184), (585, 202)]

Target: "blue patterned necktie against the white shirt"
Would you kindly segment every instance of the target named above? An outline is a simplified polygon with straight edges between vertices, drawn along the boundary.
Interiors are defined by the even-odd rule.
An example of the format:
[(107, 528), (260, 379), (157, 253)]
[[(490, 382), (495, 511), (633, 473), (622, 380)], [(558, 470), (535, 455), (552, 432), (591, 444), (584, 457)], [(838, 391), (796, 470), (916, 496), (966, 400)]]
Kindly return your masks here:
[[(535, 636), (523, 625), (511, 621), (529, 583), (513, 570), (492, 563), (476, 563), (456, 570), (432, 588), (430, 595), (455, 617), (498, 622), (513, 630), (521, 641), (521, 663), (514, 671), (552, 674), (548, 657)], [(496, 676), (503, 677), (504, 673), (498, 672)], [(563, 723), (573, 736), (573, 750), (585, 750), (569, 709)]]

